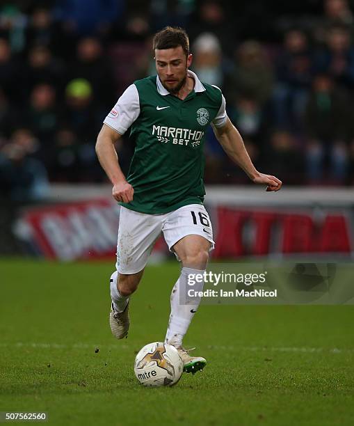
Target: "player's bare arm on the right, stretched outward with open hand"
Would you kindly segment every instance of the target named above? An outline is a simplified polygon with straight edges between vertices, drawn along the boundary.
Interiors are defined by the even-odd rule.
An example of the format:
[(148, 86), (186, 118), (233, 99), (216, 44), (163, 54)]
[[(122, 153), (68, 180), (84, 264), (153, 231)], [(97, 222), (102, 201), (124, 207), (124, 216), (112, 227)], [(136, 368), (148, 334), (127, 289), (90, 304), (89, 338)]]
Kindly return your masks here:
[(227, 156), (245, 171), (250, 180), (258, 184), (266, 184), (267, 191), (279, 191), (282, 187), (282, 182), (275, 176), (259, 173), (256, 170), (248, 155), (243, 139), (236, 127), (231, 123), (230, 118), (227, 117), (225, 124), (220, 127), (213, 125), (213, 129), (216, 139), (218, 139)]

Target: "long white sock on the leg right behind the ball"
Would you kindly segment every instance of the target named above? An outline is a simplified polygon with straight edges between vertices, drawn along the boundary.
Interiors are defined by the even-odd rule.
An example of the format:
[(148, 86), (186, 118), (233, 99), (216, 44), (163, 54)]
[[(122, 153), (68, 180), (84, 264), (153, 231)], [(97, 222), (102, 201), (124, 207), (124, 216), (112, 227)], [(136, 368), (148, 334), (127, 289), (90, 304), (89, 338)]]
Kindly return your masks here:
[[(194, 277), (196, 274), (203, 274), (204, 270), (182, 268), (181, 275), (179, 276), (175, 286), (171, 292), (171, 313), (168, 322), (168, 329), (166, 333), (165, 342), (174, 345), (175, 347), (182, 346), (182, 339), (188, 330), (191, 319), (195, 314), (200, 304), (200, 297), (188, 297), (188, 290), (202, 291), (204, 282), (198, 283)], [(189, 285), (193, 280), (193, 285)], [(188, 299), (188, 304), (186, 304)], [(191, 303), (191, 304), (189, 304)]]

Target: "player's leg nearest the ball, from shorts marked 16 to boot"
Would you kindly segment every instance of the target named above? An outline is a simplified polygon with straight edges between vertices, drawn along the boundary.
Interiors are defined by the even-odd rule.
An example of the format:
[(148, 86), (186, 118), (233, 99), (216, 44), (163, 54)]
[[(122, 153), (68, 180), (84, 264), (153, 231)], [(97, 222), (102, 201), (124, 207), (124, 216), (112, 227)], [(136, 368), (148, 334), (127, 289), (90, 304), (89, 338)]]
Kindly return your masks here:
[[(189, 324), (200, 304), (200, 297), (188, 298), (188, 278), (199, 275), (202, 278), (207, 267), (209, 250), (214, 248), (209, 215), (202, 205), (188, 205), (173, 212), (163, 232), (171, 251), (182, 262), (181, 274), (171, 293), (171, 313), (165, 341), (179, 349), (186, 372), (195, 372), (204, 368), (206, 361), (202, 357), (191, 357), (182, 348), (182, 340)], [(193, 290), (203, 289), (202, 279), (195, 280)]]

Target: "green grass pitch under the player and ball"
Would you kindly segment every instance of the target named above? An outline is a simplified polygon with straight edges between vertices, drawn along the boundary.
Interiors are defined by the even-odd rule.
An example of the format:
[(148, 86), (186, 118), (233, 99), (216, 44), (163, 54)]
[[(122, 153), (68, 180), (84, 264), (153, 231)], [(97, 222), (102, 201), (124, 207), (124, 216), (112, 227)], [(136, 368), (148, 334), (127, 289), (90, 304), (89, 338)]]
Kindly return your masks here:
[(0, 261), (0, 411), (47, 411), (51, 425), (354, 424), (354, 306), (202, 306), (184, 343), (207, 367), (143, 388), (135, 354), (165, 336), (179, 265), (147, 267), (120, 341), (112, 269)]

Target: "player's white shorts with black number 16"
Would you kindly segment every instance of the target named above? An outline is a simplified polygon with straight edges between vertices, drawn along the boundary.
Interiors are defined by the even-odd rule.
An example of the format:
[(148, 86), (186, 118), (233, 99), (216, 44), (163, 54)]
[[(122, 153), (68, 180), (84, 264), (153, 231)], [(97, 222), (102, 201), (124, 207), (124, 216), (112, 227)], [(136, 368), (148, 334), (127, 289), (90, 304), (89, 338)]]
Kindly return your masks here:
[(185, 205), (166, 214), (145, 214), (120, 207), (115, 264), (118, 272), (136, 274), (144, 269), (161, 232), (170, 251), (186, 235), (201, 235), (211, 242), (210, 250), (214, 248), (213, 228), (202, 204)]

